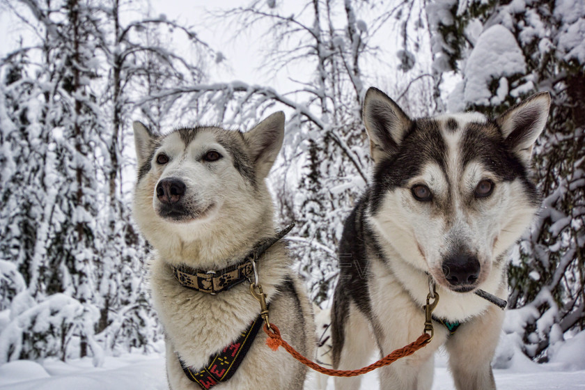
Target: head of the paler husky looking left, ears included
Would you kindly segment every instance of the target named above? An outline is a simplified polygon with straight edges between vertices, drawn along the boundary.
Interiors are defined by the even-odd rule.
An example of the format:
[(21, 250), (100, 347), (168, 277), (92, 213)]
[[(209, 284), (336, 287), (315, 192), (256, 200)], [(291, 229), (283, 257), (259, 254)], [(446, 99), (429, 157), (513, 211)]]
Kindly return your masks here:
[(153, 240), (161, 237), (194, 240), (226, 221), (253, 220), (272, 207), (264, 178), (282, 145), (282, 112), (246, 133), (195, 127), (163, 136), (139, 122), (133, 127), (138, 162), (133, 214), (155, 247)]

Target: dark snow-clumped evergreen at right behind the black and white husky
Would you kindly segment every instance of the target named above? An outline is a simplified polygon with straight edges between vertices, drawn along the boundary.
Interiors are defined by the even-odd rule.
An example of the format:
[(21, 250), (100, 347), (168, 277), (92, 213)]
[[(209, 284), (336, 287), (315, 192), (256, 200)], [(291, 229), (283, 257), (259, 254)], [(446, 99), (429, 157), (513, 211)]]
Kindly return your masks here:
[[(585, 6), (579, 0), (506, 5), (437, 0), (435, 67), (462, 81), (453, 110), (502, 112), (549, 91), (547, 129), (534, 150), (543, 208), (513, 251), (504, 329), (547, 361), (554, 344), (585, 328)], [(552, 348), (551, 348), (552, 347)]]

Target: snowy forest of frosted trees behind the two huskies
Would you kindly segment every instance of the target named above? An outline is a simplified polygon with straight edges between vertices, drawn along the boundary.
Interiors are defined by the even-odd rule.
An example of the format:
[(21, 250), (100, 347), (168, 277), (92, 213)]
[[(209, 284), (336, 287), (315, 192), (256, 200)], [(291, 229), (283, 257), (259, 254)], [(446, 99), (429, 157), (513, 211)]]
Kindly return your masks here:
[[(543, 207), (510, 252), (503, 337), (545, 363), (584, 331), (582, 0), (240, 3), (183, 24), (146, 0), (0, 0), (26, 35), (0, 57), (0, 367), (47, 357), (99, 366), (162, 339), (148, 242), (130, 217), (132, 120), (248, 130), (283, 109), (270, 186), (279, 225), (296, 223), (295, 267), (327, 307), (343, 221), (370, 175), (369, 86), (411, 116), (499, 114), (552, 95), (534, 151)], [(204, 20), (261, 36), (250, 56), (286, 82), (221, 76), (239, 65), (201, 38)]]

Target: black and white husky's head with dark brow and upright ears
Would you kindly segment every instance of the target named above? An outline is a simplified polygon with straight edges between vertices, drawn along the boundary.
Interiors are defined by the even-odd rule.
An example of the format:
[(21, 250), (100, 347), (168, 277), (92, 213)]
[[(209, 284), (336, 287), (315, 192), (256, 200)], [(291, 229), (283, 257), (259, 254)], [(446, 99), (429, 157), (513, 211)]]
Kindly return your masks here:
[(529, 166), (549, 103), (541, 93), (495, 119), (412, 120), (370, 88), (363, 113), (375, 161), (368, 211), (400, 258), (453, 291), (481, 286), (538, 210)]

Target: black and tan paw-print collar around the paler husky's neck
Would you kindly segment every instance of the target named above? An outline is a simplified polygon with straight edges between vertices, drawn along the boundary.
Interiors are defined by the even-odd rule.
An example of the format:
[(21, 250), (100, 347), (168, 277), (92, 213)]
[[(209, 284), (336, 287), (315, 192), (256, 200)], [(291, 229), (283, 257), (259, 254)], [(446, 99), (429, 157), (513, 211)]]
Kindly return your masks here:
[(187, 265), (181, 265), (173, 267), (173, 276), (183, 287), (212, 295), (229, 290), (246, 280), (256, 281), (252, 261), (258, 260), (268, 248), (290, 232), (293, 226), (295, 224), (290, 224), (274, 237), (260, 240), (240, 263), (217, 271), (194, 270)]

